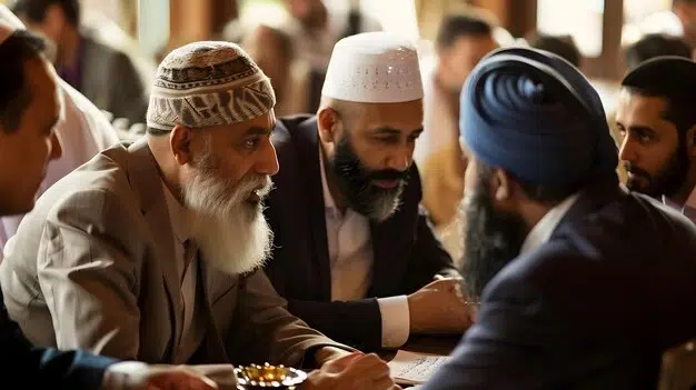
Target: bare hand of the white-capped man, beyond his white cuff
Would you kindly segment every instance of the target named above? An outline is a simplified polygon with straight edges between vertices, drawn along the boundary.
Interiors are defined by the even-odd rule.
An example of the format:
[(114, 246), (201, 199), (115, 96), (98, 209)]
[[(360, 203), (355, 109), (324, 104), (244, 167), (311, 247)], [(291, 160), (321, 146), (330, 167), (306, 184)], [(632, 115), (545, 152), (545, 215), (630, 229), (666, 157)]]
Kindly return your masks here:
[(436, 278), (408, 296), (410, 332), (463, 333), (471, 324), (471, 307), (465, 303), (461, 279)]

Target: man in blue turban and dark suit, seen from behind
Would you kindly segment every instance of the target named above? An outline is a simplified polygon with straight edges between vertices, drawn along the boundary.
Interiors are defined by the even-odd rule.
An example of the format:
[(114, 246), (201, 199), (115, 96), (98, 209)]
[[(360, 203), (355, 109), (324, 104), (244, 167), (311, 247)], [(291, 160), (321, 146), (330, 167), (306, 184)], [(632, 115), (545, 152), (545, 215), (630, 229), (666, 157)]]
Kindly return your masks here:
[(619, 187), (599, 97), (565, 60), (496, 51), (460, 104), (480, 307), (424, 388), (655, 388), (662, 352), (696, 336), (695, 228)]

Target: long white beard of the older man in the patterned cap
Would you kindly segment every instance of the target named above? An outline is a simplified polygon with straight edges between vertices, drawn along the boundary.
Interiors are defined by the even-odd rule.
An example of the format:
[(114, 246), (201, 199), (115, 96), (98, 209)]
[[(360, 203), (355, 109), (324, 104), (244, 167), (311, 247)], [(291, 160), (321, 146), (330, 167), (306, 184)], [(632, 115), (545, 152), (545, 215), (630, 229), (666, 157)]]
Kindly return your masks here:
[[(253, 174), (231, 184), (217, 174), (215, 158), (200, 160), (182, 190), (201, 258), (231, 276), (262, 267), (272, 249), (261, 203), (272, 188), (270, 177)], [(261, 199), (258, 203), (248, 201), (253, 192)]]

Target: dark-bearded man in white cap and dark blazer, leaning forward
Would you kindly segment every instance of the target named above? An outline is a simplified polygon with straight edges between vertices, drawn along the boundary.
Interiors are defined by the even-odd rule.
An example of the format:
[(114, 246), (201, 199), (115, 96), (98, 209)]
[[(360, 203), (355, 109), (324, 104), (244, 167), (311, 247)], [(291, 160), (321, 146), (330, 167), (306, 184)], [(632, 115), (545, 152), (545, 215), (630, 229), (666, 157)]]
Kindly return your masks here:
[(290, 312), (360, 349), (469, 323), (453, 260), (418, 206), (422, 112), (416, 50), (374, 32), (336, 44), (317, 116), (276, 126), (267, 274)]

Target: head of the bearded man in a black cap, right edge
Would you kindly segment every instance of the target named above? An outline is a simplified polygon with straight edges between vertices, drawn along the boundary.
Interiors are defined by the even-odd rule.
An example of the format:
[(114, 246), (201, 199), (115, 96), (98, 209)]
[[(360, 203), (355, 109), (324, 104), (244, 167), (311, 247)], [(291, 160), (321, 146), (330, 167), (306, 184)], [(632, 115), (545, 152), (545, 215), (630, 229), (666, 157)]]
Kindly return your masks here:
[(657, 58), (622, 82), (616, 127), (626, 187), (696, 221), (696, 63)]

